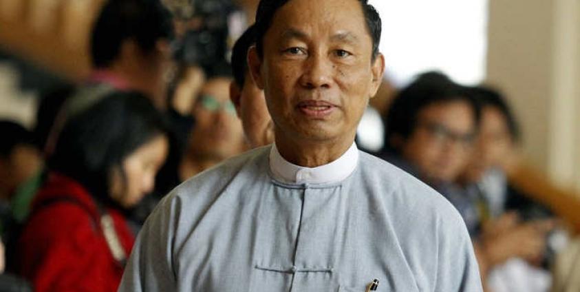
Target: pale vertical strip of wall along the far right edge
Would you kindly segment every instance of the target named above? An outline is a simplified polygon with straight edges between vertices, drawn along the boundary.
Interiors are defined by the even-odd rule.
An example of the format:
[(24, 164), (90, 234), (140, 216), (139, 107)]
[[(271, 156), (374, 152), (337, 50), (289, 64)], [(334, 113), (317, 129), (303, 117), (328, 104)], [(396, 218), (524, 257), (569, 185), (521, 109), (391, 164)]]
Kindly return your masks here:
[(555, 1), (550, 174), (580, 189), (580, 2)]

